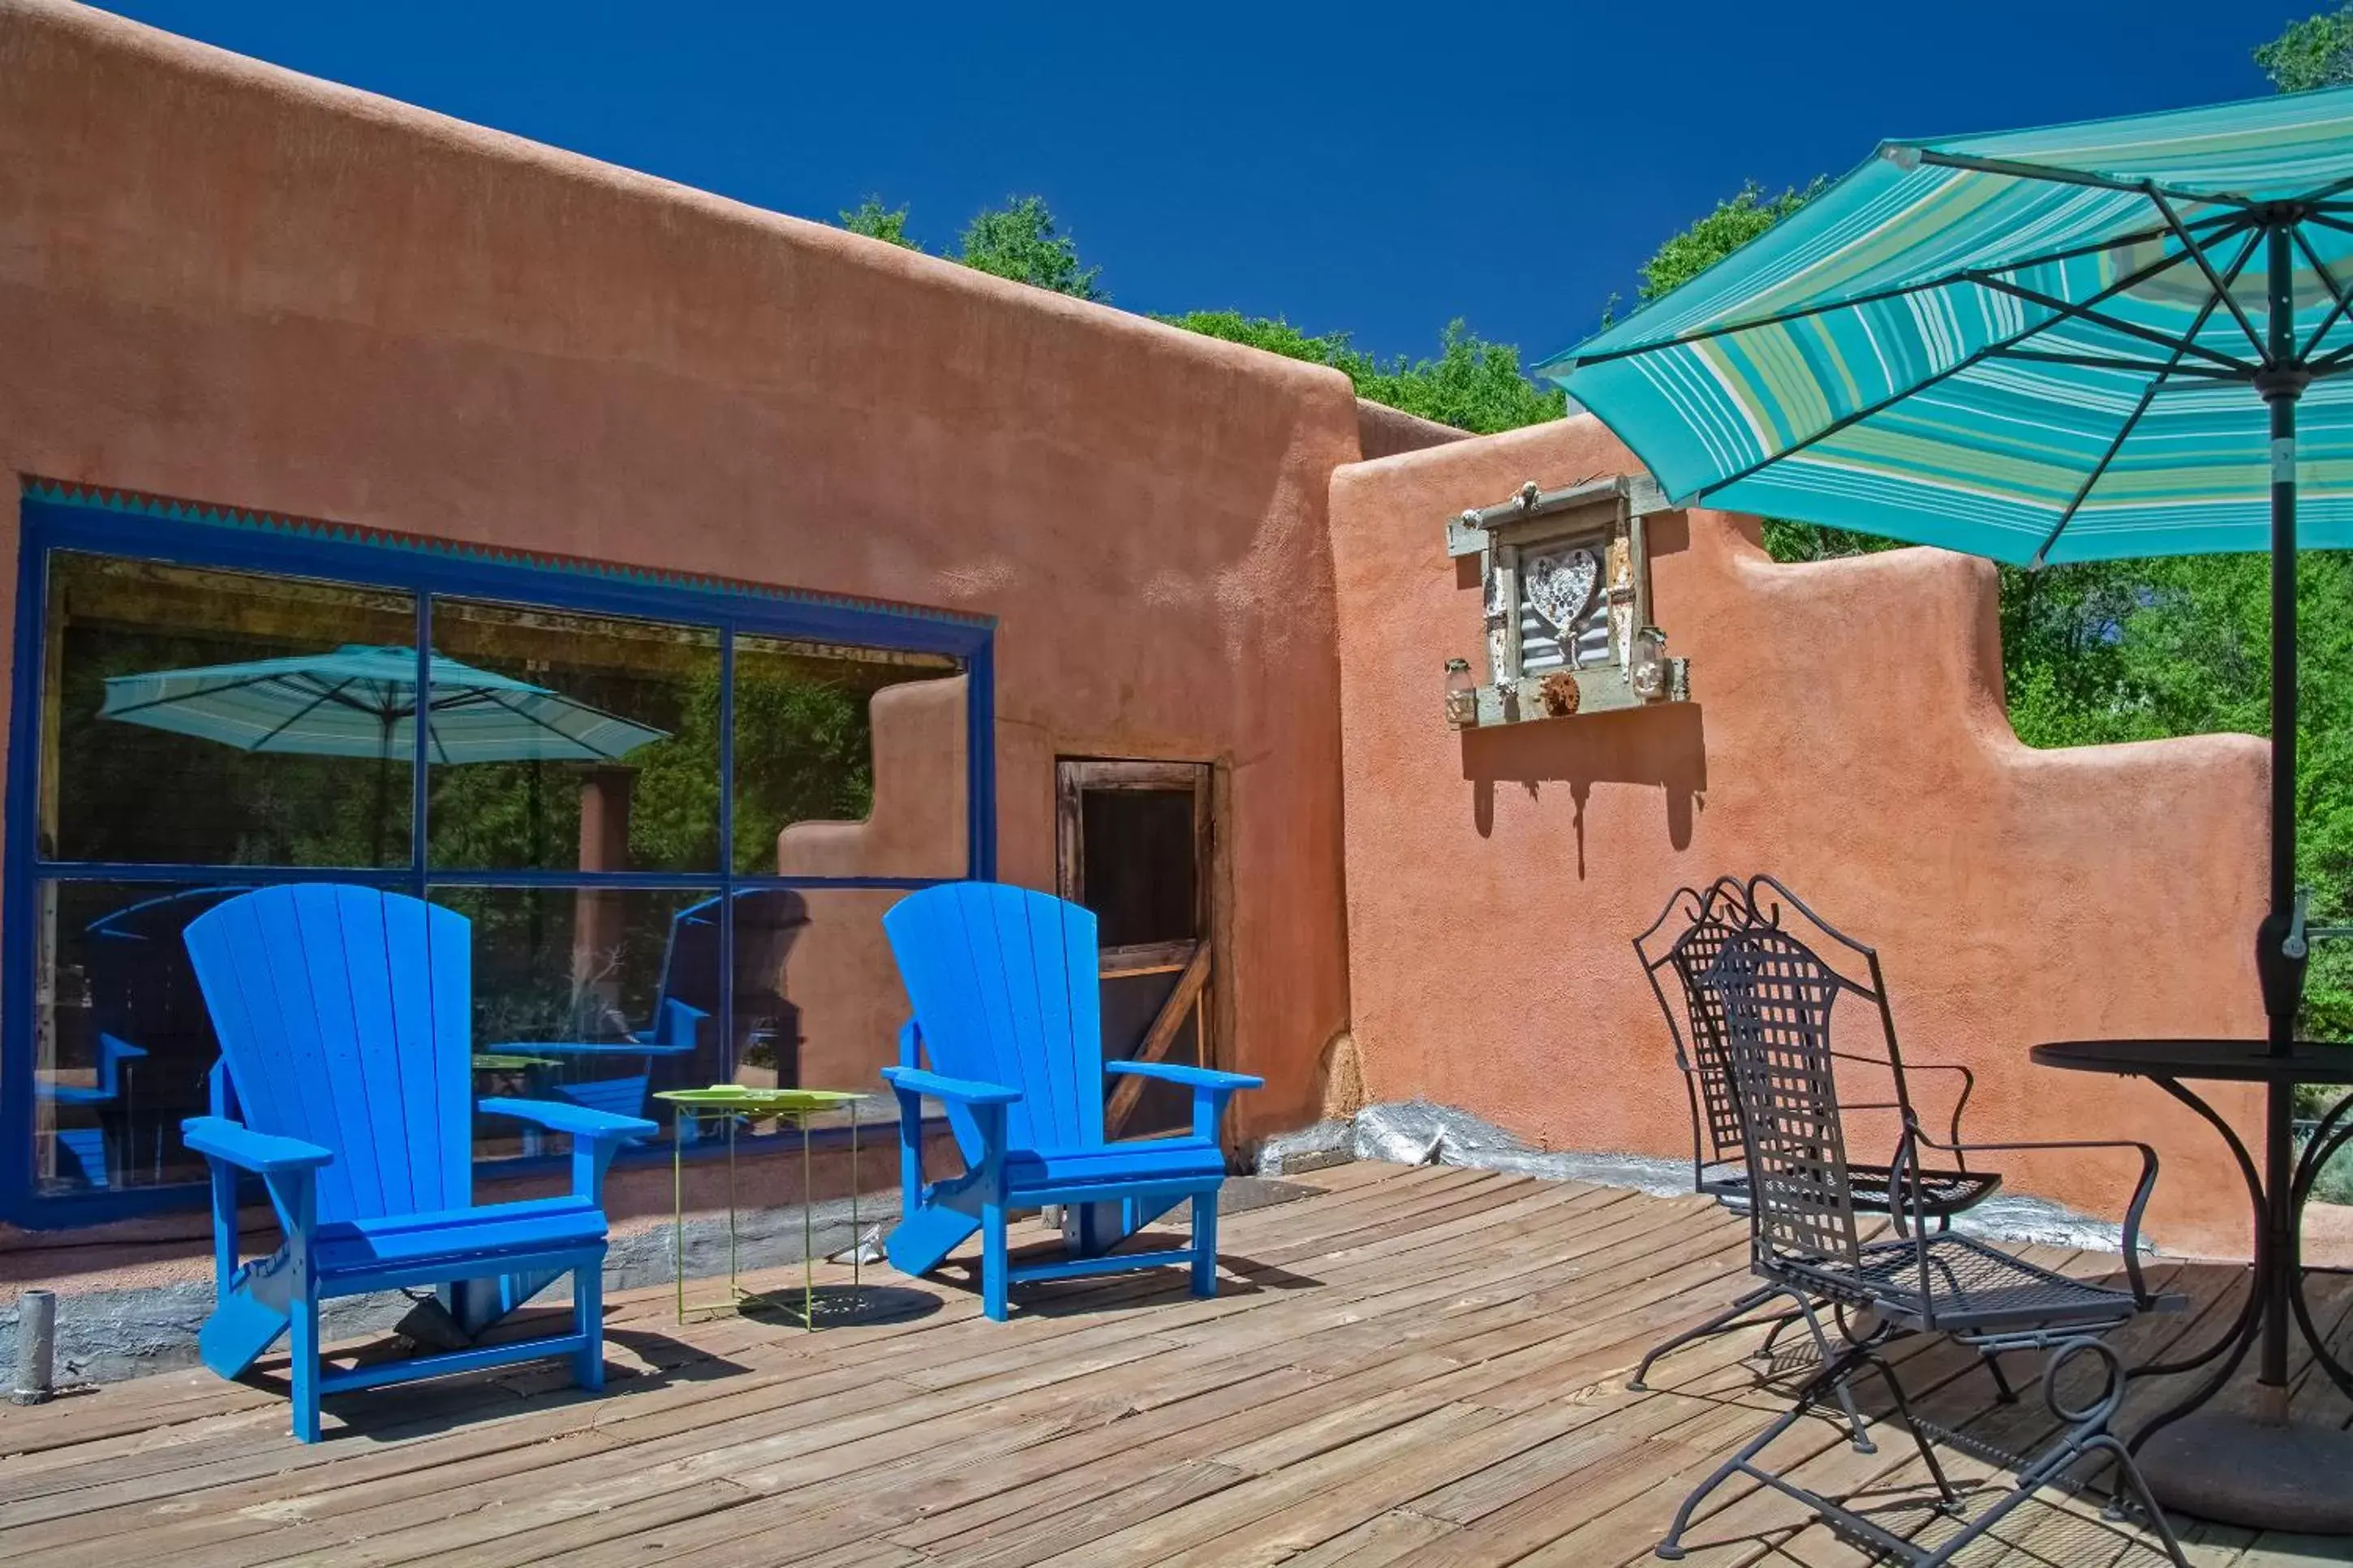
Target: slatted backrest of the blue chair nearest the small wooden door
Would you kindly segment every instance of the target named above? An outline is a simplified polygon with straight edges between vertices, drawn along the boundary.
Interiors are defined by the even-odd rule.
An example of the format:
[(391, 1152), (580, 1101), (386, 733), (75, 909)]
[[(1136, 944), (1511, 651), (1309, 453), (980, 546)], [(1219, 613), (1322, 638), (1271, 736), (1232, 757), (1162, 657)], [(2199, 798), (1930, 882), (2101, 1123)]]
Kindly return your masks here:
[[(1016, 1150), (1104, 1143), (1101, 959), (1094, 912), (1052, 893), (951, 882), (882, 917), (929, 1067), (1019, 1088)], [(960, 1138), (969, 1133), (960, 1128)], [(967, 1145), (967, 1154), (979, 1157)]]

